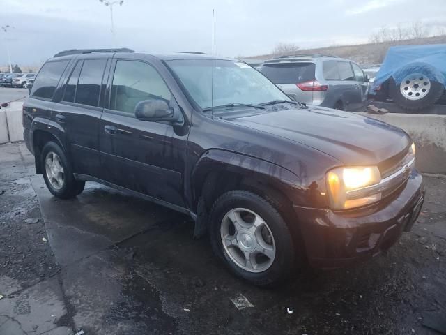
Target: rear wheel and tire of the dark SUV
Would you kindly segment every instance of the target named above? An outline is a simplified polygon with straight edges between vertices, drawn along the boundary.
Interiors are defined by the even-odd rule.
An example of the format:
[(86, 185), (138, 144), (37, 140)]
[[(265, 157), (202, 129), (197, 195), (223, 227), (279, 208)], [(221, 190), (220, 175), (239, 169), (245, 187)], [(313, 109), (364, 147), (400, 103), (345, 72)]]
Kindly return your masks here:
[[(49, 161), (48, 161), (49, 160)], [(52, 163), (49, 163), (49, 162)], [(85, 181), (77, 181), (59, 144), (47, 142), (40, 155), (40, 168), (49, 192), (57, 198), (70, 199), (84, 191)], [(52, 167), (52, 168), (50, 168)]]

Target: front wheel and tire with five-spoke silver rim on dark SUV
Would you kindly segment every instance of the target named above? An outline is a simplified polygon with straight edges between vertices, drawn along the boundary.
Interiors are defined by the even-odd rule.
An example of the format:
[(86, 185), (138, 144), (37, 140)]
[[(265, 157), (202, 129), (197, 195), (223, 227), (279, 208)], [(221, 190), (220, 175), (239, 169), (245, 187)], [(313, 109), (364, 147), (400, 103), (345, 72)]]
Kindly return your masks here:
[[(237, 211), (239, 211), (238, 214), (236, 214)], [(247, 234), (245, 233), (247, 230), (242, 228), (237, 230), (236, 225), (233, 225), (230, 217), (234, 214), (237, 215), (238, 219), (245, 216), (242, 220), (243, 229), (246, 229), (246, 227), (252, 229), (250, 223), (245, 225), (246, 222), (254, 220), (252, 216), (259, 218), (264, 225), (261, 224), (254, 228), (254, 233), (249, 232)], [(233, 226), (232, 231), (231, 225)], [(295, 248), (291, 230), (279, 211), (259, 195), (248, 191), (229, 191), (221, 195), (210, 211), (209, 232), (210, 243), (215, 255), (225, 263), (233, 274), (249, 283), (262, 287), (272, 287), (286, 281), (294, 273), (296, 265)], [(251, 242), (254, 239), (253, 246)], [(228, 243), (231, 243), (231, 246), (224, 246)], [(271, 250), (274, 250), (274, 255), (273, 257), (266, 257), (263, 252), (259, 253), (254, 250), (250, 257), (246, 257), (247, 248), (245, 248), (245, 244), (256, 250), (258, 247), (266, 246), (263, 251), (266, 252), (268, 249), (268, 254), (271, 255)], [(245, 255), (243, 250), (245, 250)], [(245, 259), (249, 259), (249, 262)]]

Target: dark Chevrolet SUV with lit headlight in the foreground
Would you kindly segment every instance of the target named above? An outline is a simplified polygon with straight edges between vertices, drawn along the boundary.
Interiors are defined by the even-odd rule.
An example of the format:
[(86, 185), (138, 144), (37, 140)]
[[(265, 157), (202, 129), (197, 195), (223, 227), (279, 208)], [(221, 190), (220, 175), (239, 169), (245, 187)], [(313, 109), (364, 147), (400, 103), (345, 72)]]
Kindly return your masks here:
[(53, 195), (97, 181), (187, 214), (256, 285), (377, 255), (424, 198), (401, 129), (291, 101), (234, 59), (61, 52), (40, 69), (23, 123)]

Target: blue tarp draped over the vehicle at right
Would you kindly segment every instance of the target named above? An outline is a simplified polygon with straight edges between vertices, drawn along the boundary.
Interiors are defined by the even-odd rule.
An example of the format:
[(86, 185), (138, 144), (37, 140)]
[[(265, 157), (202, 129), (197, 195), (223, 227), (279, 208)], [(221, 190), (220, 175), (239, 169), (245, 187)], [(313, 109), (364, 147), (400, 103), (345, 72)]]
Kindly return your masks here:
[(421, 73), (446, 87), (446, 44), (390, 47), (376, 74), (374, 87), (393, 77), (396, 84), (407, 75)]

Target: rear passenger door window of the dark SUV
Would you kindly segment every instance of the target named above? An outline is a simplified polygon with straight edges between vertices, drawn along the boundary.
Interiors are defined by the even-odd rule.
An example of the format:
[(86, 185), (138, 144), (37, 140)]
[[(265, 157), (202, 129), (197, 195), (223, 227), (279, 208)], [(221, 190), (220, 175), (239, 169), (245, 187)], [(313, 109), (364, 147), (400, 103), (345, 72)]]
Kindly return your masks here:
[(107, 59), (89, 59), (84, 61), (79, 82), (77, 83), (76, 101), (82, 105), (98, 106), (99, 92)]

